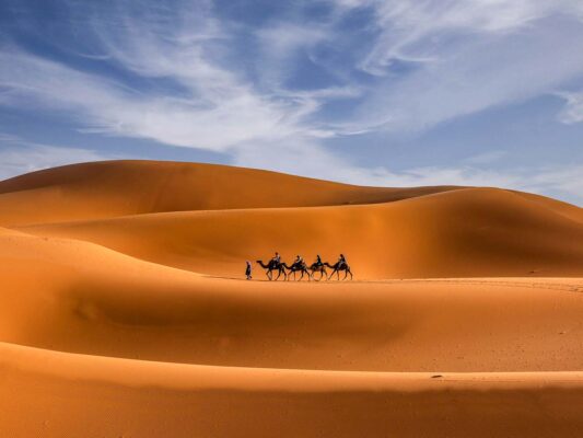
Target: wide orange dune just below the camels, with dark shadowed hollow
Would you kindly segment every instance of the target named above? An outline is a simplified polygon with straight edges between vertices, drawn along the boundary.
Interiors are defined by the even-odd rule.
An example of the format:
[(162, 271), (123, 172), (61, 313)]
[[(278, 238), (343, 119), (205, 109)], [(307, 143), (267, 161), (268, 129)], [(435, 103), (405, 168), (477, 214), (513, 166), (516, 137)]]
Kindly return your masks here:
[(0, 243), (11, 290), (0, 307), (0, 339), (15, 344), (269, 368), (583, 366), (581, 280), (273, 285), (203, 278), (78, 241), (11, 235)]

